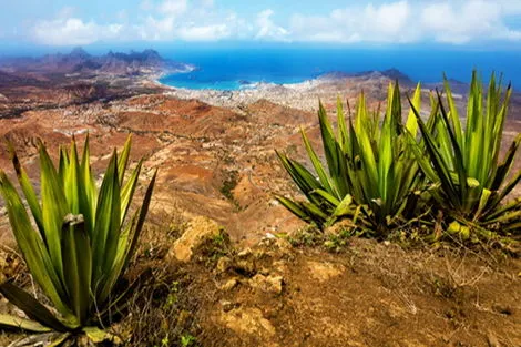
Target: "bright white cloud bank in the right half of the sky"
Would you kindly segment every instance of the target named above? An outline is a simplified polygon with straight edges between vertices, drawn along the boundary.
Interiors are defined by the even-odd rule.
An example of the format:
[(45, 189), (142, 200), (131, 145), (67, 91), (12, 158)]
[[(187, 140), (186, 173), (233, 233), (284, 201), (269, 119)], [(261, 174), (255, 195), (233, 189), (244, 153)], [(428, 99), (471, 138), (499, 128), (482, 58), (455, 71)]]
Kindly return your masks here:
[(511, 0), (389, 1), (336, 9), (327, 16), (294, 14), (290, 32), (300, 41), (436, 41), (461, 44), (474, 40), (520, 40), (504, 18), (521, 13)]

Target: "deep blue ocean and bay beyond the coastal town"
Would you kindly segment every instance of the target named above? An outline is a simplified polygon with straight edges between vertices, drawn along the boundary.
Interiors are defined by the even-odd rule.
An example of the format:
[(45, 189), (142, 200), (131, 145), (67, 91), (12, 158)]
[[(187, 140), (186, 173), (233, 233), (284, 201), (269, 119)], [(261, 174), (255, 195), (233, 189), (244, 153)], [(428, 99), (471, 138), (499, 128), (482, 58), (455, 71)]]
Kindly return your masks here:
[(198, 48), (162, 52), (194, 64), (190, 73), (163, 76), (160, 82), (187, 89), (238, 90), (255, 83), (298, 83), (328, 72), (356, 73), (391, 68), (418, 82), (449, 79), (469, 82), (472, 69), (483, 81), (492, 71), (521, 89), (521, 51), (347, 48)]

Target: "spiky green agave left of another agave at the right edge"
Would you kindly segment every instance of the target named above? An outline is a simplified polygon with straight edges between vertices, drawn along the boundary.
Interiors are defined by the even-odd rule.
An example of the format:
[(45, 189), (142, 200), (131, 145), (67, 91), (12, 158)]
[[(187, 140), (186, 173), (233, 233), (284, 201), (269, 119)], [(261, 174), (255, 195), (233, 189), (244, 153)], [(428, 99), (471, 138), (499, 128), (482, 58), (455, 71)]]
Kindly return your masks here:
[[(412, 102), (417, 109), (420, 95), (418, 85)], [(316, 175), (287, 155), (278, 155), (308, 202), (277, 198), (298, 217), (319, 226), (353, 216), (355, 204), (361, 206), (365, 220), (374, 229), (385, 233), (397, 225), (403, 213), (413, 210), (417, 200), (413, 193), (421, 177), (407, 137), (418, 132), (415, 113), (410, 111), (406, 125), (402, 125), (398, 83), (389, 85), (381, 124), (379, 110), (368, 111), (364, 94), (358, 101), (355, 123), (349, 119), (347, 125), (343, 105), (337, 104), (336, 135), (321, 104), (318, 111), (328, 171), (302, 131)], [(407, 129), (407, 135), (403, 129)]]

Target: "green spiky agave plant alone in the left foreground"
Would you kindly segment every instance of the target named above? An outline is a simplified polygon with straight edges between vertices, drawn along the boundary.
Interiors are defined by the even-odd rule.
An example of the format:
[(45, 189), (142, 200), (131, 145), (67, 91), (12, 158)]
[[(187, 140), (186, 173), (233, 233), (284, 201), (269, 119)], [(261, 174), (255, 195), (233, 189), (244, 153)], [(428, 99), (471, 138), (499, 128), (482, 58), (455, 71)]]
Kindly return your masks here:
[[(0, 172), (0, 193), (18, 247), (48, 300), (37, 299), (11, 282), (0, 284), (0, 293), (28, 317), (0, 315), (0, 326), (59, 333), (55, 345), (85, 334), (92, 340), (105, 337), (101, 327), (125, 304), (123, 294), (114, 288), (135, 251), (155, 182), (154, 173), (141, 207), (129, 216), (142, 167), (140, 161), (125, 180), (130, 147), (131, 137), (121, 155), (114, 150), (98, 188), (90, 165), (89, 139), (81, 159), (75, 140), (70, 151), (61, 149), (58, 169), (41, 143), (40, 201), (11, 147), (35, 228), (4, 172)], [(52, 308), (44, 303), (52, 304)]]

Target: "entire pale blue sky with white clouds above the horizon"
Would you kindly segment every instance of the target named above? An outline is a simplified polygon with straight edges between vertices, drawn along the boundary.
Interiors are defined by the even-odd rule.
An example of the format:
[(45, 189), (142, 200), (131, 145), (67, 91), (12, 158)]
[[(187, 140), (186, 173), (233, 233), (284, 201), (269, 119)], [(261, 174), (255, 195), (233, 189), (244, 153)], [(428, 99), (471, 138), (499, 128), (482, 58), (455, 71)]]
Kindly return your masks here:
[(248, 41), (521, 49), (521, 0), (0, 0), (0, 42), (55, 48)]

